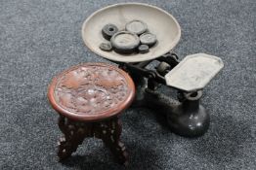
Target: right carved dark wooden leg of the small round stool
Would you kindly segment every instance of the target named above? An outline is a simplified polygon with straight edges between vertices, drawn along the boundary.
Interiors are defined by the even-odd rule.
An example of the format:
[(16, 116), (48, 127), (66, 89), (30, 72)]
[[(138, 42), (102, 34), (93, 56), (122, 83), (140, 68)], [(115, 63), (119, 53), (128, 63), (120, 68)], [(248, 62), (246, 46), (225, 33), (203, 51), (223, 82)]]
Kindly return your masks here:
[(118, 118), (109, 119), (100, 123), (100, 137), (117, 161), (128, 165), (128, 153), (123, 143), (120, 141), (122, 132), (121, 121)]

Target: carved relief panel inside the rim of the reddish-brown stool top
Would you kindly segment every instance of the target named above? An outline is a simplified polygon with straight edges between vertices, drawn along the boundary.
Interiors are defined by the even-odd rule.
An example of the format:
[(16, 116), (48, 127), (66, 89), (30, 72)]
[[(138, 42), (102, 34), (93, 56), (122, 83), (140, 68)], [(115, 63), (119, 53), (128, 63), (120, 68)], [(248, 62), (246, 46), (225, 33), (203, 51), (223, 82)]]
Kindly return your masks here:
[(55, 100), (74, 114), (100, 114), (123, 102), (128, 86), (123, 75), (105, 65), (68, 70), (55, 87)]

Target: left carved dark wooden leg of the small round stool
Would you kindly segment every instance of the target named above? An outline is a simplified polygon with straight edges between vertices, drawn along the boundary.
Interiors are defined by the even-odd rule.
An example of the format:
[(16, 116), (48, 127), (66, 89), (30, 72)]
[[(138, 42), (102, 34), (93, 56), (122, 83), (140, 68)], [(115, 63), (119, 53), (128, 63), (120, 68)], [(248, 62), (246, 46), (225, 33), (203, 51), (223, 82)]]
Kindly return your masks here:
[(86, 131), (72, 123), (70, 120), (60, 116), (59, 127), (64, 133), (64, 137), (60, 139), (58, 156), (60, 160), (67, 158), (74, 153), (77, 147), (82, 144)]

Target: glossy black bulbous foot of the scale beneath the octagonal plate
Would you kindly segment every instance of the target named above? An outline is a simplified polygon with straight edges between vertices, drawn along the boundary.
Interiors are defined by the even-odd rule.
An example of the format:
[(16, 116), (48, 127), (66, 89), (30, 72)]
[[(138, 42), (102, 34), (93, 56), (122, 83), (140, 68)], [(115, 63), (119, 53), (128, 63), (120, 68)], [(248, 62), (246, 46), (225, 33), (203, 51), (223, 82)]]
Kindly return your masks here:
[(172, 108), (171, 114), (167, 115), (172, 132), (181, 136), (197, 137), (208, 130), (210, 116), (199, 103), (201, 96), (202, 91), (186, 93), (184, 101)]

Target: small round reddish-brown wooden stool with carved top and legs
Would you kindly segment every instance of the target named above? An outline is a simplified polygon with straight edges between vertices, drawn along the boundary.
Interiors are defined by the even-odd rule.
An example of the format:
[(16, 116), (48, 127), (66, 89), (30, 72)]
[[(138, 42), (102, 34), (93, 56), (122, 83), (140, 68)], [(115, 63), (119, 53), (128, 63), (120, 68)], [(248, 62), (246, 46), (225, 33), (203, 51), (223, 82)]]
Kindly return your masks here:
[(119, 163), (127, 164), (127, 153), (120, 142), (118, 116), (133, 101), (135, 86), (127, 73), (104, 63), (85, 63), (54, 78), (48, 98), (59, 113), (64, 138), (58, 156), (75, 152), (86, 137), (104, 141)]

